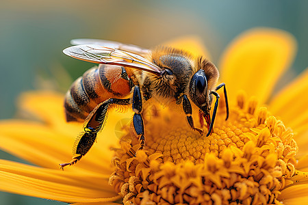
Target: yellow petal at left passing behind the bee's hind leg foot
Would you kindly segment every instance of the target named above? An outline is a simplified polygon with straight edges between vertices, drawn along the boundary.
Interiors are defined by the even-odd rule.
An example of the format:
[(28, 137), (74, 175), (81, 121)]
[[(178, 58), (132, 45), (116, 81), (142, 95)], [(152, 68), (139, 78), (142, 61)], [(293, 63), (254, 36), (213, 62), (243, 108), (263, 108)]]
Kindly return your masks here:
[[(98, 136), (98, 143), (94, 143), (88, 154), (74, 167), (91, 172), (112, 172), (110, 146), (116, 146), (118, 141), (114, 135), (114, 121), (111, 118), (110, 122), (107, 122), (107, 128)], [(78, 132), (75, 130), (72, 134), (65, 135), (38, 123), (17, 120), (2, 122), (0, 148), (36, 165), (58, 169), (59, 163), (70, 161), (73, 142)], [(74, 170), (73, 167), (66, 169)]]

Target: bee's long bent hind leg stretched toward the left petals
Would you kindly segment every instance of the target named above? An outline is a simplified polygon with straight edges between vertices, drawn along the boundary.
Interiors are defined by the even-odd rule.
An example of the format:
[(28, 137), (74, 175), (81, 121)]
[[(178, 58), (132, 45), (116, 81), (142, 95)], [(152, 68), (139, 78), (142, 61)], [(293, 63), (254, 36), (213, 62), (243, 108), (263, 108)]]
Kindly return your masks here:
[(92, 147), (94, 141), (97, 139), (97, 133), (103, 128), (105, 119), (107, 118), (107, 109), (110, 105), (129, 105), (130, 99), (116, 99), (110, 98), (104, 102), (99, 103), (95, 107), (88, 117), (86, 118), (84, 124), (84, 131), (79, 134), (75, 139), (73, 146), (73, 158), (69, 163), (60, 164), (61, 168), (67, 165), (73, 165), (77, 163)]

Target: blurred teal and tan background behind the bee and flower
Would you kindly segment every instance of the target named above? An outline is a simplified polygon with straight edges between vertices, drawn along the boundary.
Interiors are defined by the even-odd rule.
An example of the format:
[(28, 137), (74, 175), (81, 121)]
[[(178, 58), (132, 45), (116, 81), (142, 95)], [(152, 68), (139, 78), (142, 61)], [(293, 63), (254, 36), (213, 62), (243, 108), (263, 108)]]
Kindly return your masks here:
[[(242, 31), (274, 27), (292, 33), (298, 42), (294, 64), (280, 85), (308, 65), (305, 0), (0, 2), (0, 120), (16, 118), (16, 98), (21, 92), (40, 88), (65, 92), (92, 66), (62, 54), (73, 38), (116, 40), (148, 48), (193, 35), (203, 40), (217, 64), (225, 46)], [(0, 158), (21, 161), (4, 152)], [(0, 204), (63, 203), (0, 193)]]

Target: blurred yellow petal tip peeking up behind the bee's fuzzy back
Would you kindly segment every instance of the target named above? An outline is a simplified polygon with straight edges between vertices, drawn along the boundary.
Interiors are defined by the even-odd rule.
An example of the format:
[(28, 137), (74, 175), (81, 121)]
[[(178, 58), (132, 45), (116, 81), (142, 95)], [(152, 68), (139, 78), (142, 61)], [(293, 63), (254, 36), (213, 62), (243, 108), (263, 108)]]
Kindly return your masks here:
[(205, 49), (204, 42), (197, 36), (183, 36), (174, 38), (168, 42), (163, 43), (166, 46), (172, 46), (175, 49), (183, 49), (189, 51), (193, 55), (202, 55), (207, 59), (211, 59), (209, 52)]

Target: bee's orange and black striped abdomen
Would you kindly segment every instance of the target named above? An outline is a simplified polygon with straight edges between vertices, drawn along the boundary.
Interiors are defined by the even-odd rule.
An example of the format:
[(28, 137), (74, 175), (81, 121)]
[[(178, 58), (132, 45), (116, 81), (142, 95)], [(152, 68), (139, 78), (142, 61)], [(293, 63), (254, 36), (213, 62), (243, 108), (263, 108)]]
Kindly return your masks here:
[(109, 98), (124, 98), (130, 91), (124, 67), (100, 64), (79, 77), (66, 93), (66, 121), (84, 121), (100, 102)]

